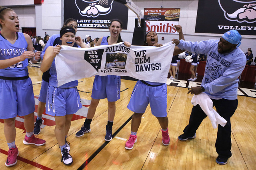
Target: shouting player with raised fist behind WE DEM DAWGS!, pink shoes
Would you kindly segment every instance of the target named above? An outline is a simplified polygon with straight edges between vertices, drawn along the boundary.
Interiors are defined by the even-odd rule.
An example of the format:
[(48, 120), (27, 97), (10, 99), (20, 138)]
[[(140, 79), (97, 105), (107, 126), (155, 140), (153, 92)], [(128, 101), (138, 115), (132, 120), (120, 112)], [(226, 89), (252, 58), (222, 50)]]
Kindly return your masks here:
[[(179, 38), (184, 39), (182, 27), (174, 25)], [(160, 47), (158, 44), (158, 36), (154, 31), (149, 31), (145, 36), (146, 45)], [(178, 55), (184, 51), (178, 47), (174, 48), (174, 53), (170, 55)], [(167, 78), (167, 77), (166, 77)], [(131, 135), (125, 144), (125, 149), (133, 149), (134, 143), (137, 142), (137, 131), (140, 127), (141, 117), (145, 113), (146, 108), (150, 104), (151, 113), (158, 119), (162, 131), (163, 145), (169, 145), (170, 137), (168, 133), (168, 117), (167, 117), (167, 86), (166, 83), (148, 82), (138, 80), (134, 86), (128, 109), (134, 112), (132, 115)]]

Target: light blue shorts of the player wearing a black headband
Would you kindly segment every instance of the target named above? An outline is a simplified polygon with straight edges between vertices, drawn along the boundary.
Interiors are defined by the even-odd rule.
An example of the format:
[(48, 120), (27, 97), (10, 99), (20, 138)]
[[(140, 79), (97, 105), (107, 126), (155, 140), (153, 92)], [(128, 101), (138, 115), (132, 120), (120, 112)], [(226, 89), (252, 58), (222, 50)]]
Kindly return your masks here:
[(76, 87), (57, 88), (48, 86), (46, 114), (52, 116), (70, 115), (81, 108), (81, 99)]

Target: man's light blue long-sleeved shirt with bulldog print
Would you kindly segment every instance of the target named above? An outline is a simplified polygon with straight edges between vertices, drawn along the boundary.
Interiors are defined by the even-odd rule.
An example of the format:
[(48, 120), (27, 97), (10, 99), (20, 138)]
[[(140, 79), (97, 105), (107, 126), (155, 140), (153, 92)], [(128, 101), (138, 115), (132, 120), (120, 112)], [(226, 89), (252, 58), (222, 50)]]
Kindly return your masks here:
[(212, 99), (237, 99), (238, 77), (244, 70), (246, 57), (238, 47), (230, 53), (218, 53), (219, 40), (191, 42), (180, 40), (178, 47), (207, 55), (202, 85)]

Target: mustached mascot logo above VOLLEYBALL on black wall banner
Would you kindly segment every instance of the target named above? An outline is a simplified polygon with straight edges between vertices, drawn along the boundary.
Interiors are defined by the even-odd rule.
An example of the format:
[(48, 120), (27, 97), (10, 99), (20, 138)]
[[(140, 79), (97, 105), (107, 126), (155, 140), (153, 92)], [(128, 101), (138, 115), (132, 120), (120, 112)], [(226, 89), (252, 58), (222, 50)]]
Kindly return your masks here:
[(218, 0), (229, 21), (256, 22), (256, 0)]

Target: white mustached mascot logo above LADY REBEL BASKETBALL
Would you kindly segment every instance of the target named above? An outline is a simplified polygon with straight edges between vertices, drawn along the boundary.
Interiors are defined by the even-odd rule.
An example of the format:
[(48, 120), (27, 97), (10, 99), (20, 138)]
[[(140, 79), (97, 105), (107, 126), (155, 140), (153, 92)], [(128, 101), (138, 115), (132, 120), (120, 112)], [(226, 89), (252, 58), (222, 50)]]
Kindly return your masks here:
[(75, 0), (81, 16), (106, 15), (112, 9), (113, 0)]

